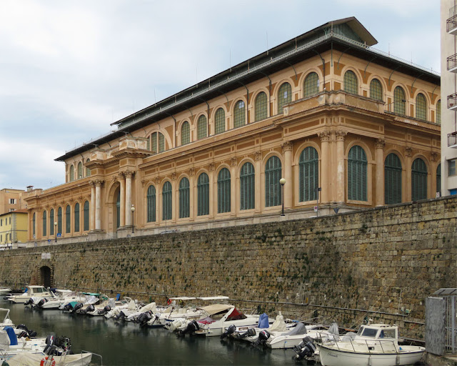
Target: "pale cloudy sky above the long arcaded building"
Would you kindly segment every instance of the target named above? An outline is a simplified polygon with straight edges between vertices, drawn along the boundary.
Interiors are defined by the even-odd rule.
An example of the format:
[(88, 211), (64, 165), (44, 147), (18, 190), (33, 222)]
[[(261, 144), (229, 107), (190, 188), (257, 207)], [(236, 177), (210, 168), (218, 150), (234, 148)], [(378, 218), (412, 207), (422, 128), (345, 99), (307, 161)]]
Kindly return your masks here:
[(64, 183), (54, 159), (112, 122), (356, 16), (381, 51), (440, 70), (438, 0), (0, 0), (0, 189)]

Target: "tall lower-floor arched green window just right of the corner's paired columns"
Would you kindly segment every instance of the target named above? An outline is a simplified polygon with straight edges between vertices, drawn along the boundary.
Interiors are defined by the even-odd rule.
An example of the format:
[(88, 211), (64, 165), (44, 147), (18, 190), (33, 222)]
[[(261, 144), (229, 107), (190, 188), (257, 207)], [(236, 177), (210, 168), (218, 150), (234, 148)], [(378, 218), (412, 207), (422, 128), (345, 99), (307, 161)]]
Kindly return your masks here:
[(348, 154), (348, 199), (367, 201), (366, 154), (362, 147), (351, 147)]

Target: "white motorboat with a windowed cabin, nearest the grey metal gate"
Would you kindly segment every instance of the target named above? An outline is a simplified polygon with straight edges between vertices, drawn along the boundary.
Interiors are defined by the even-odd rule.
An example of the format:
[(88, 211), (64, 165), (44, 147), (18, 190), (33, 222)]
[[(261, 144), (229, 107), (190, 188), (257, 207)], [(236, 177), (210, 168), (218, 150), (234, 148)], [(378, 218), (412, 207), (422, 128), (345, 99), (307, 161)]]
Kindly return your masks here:
[(316, 345), (323, 366), (403, 366), (421, 360), (425, 347), (398, 345), (396, 325), (362, 325), (358, 333)]

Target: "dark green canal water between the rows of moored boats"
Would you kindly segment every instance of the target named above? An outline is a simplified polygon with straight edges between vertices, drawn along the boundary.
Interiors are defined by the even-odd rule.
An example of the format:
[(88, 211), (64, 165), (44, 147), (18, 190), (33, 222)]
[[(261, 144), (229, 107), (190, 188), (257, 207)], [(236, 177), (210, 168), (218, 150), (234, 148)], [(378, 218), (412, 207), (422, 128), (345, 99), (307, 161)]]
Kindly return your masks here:
[[(161, 328), (114, 322), (104, 317), (71, 315), (60, 310), (32, 310), (0, 300), (15, 325), (24, 324), (38, 336), (69, 337), (75, 353), (86, 350), (103, 357), (103, 365), (306, 365), (293, 360), (293, 350), (262, 350), (247, 342), (219, 337), (176, 337)], [(97, 362), (98, 361), (98, 362)], [(93, 357), (91, 365), (100, 365)]]

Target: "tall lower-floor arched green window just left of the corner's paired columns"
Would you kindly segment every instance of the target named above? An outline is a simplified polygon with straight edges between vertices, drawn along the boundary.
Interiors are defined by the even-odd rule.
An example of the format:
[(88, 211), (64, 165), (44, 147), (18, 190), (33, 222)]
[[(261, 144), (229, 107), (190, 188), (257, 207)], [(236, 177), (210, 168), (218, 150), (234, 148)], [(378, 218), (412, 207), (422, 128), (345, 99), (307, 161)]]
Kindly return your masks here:
[(300, 154), (300, 202), (315, 201), (319, 183), (319, 157), (317, 150), (306, 147)]

